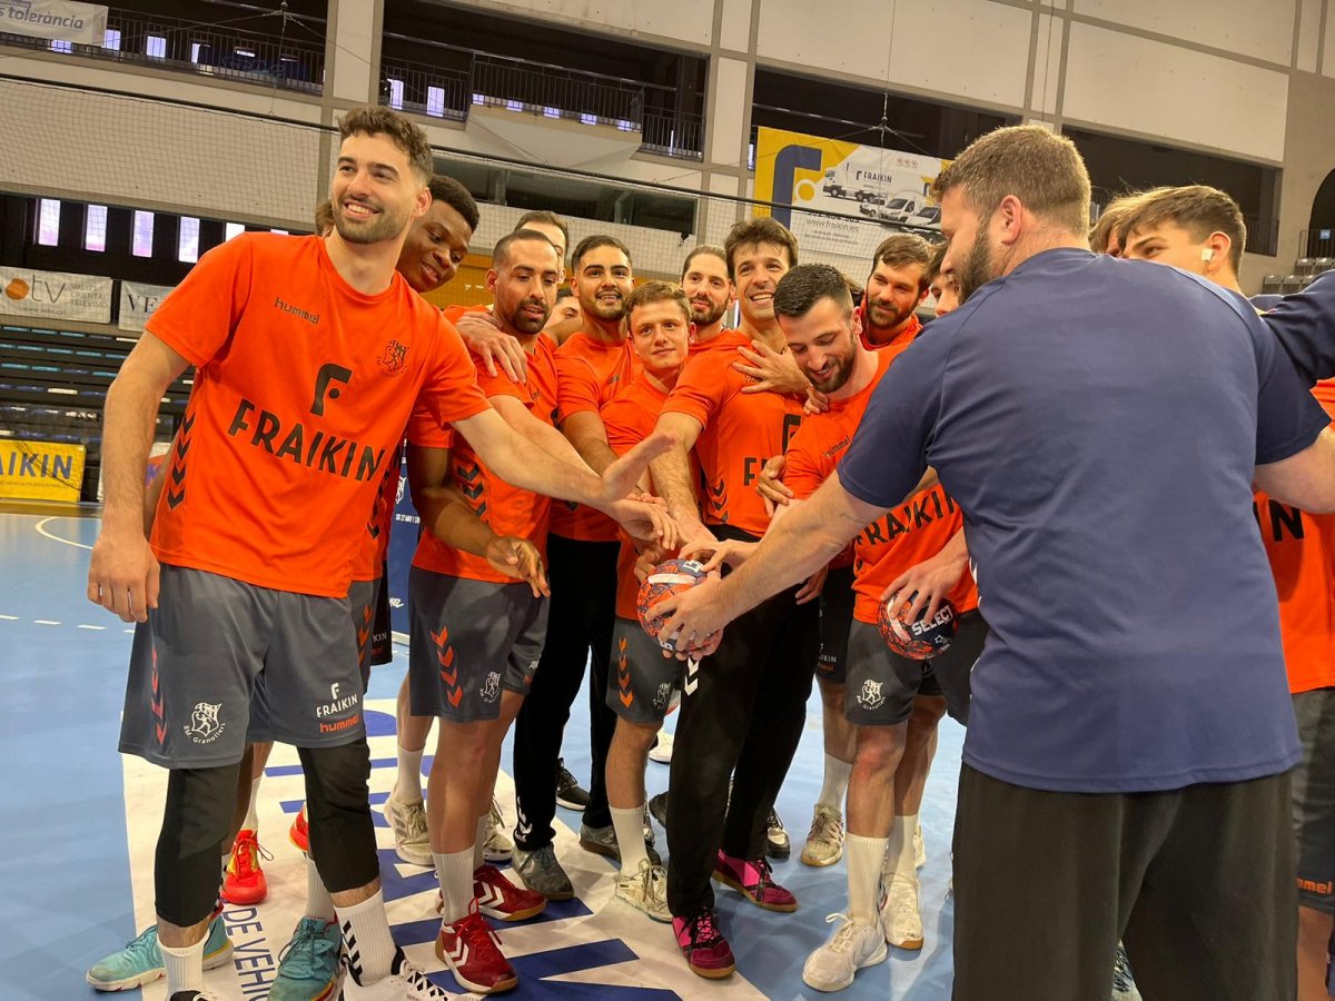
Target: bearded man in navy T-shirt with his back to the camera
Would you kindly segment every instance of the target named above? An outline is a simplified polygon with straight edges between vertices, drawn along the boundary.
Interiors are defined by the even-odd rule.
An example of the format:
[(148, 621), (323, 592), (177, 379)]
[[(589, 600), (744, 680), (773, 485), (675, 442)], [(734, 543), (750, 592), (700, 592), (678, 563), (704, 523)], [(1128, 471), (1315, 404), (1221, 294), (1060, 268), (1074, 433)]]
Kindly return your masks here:
[(668, 634), (708, 651), (930, 466), (996, 637), (971, 675), (955, 997), (1107, 997), (1119, 933), (1147, 997), (1292, 997), (1300, 749), (1251, 495), (1335, 509), (1328, 418), (1246, 303), (1089, 252), (1069, 140), (997, 129), (936, 194), (964, 304), (825, 486), (668, 603)]

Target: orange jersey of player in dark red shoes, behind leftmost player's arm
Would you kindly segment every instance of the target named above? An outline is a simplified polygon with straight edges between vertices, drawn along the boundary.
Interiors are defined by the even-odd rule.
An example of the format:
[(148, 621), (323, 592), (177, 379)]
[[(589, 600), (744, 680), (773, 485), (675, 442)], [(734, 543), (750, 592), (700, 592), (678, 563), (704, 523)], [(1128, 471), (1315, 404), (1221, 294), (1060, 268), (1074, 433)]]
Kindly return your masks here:
[[(529, 356), (529, 380), (519, 386), (505, 372), (487, 375), (486, 366), (474, 358), (478, 367), (478, 384), (487, 396), (514, 396), (527, 404), (529, 411), (545, 424), (553, 423), (557, 408), (555, 348), (547, 338), (534, 340), (534, 351)], [(489, 470), (473, 451), (462, 435), (442, 431), (429, 415), (413, 412), (409, 424), (409, 440), (429, 448), (450, 448), (450, 483), (473, 506), (487, 527), (497, 535), (517, 535), (529, 539), (546, 558), (547, 517), (551, 498), (510, 486)], [(493, 569), (483, 557), (447, 546), (430, 531), (423, 531), (418, 539), (413, 566), (450, 577), (465, 577), (473, 581), (513, 583), (515, 578)]]

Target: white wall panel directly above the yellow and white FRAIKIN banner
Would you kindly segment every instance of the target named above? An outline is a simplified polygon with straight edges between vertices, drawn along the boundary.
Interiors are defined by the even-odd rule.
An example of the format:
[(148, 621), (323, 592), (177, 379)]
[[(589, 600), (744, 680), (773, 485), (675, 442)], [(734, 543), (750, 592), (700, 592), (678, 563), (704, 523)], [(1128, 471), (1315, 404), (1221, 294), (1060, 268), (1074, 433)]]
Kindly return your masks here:
[(989, 0), (893, 7), (888, 0), (766, 0), (757, 53), (816, 73), (854, 73), (1020, 107), (1029, 25), (1029, 11)]

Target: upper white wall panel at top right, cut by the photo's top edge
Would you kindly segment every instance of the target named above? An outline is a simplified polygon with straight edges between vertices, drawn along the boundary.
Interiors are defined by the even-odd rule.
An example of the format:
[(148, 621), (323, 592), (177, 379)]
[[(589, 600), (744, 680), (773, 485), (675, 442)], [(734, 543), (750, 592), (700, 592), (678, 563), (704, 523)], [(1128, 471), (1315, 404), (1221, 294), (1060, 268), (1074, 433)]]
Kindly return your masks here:
[(1072, 0), (1075, 13), (1288, 65), (1295, 0)]

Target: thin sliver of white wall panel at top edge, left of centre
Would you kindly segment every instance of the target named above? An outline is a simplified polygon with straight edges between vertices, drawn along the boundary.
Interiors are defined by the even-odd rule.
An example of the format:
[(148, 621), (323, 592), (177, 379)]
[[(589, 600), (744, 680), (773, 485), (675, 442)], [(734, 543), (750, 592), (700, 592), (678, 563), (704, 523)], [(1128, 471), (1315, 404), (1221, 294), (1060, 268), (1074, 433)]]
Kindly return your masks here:
[(519, 13), (615, 35), (659, 35), (709, 45), (714, 31), (714, 0), (458, 0), (490, 13)]

